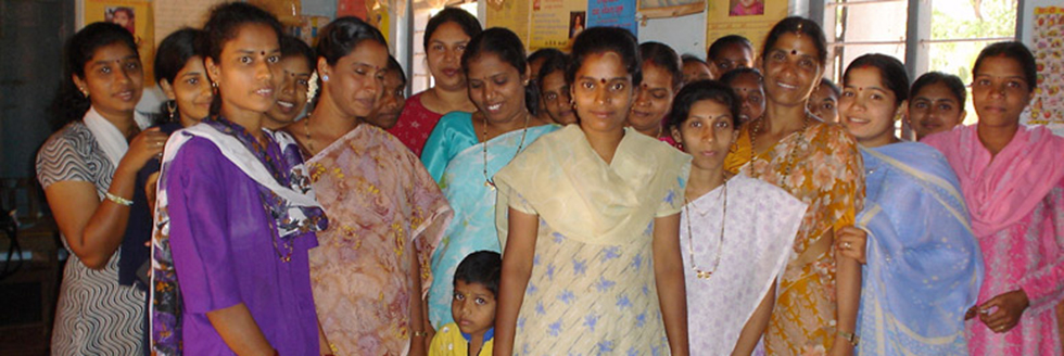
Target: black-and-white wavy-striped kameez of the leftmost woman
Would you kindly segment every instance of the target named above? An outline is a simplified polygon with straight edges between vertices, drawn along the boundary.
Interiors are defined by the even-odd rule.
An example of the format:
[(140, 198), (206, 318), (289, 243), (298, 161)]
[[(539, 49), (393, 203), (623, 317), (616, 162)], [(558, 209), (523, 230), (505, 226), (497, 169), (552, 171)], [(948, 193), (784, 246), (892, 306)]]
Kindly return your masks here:
[[(52, 135), (37, 153), (41, 187), (88, 181), (103, 200), (115, 167), (80, 120)], [(66, 239), (63, 246), (69, 250)], [(92, 270), (69, 255), (60, 287), (52, 332), (53, 355), (137, 355), (142, 352), (144, 293), (118, 285), (118, 252), (106, 267)]]

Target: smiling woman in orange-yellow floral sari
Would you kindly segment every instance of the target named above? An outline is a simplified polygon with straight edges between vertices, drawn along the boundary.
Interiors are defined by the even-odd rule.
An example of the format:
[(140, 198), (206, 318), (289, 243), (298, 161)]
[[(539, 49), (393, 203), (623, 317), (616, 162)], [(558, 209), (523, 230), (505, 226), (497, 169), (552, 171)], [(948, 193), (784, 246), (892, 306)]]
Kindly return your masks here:
[(809, 204), (765, 332), (769, 355), (850, 355), (859, 341), (860, 265), (836, 259), (832, 245), (863, 205), (861, 154), (845, 129), (806, 110), (826, 55), (815, 23), (787, 17), (772, 28), (761, 55), (764, 115), (743, 126), (724, 163)]

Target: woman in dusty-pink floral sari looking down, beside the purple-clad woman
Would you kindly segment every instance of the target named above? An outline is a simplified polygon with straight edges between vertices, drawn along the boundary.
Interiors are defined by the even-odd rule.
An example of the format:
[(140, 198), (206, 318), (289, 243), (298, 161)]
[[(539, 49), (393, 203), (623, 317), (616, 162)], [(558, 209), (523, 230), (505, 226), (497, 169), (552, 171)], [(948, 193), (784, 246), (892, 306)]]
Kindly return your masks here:
[(286, 128), (331, 221), (311, 252), (318, 318), (337, 355), (420, 355), (429, 258), (451, 209), (417, 156), (363, 119), (383, 90), (384, 37), (355, 17), (320, 36), (318, 104)]

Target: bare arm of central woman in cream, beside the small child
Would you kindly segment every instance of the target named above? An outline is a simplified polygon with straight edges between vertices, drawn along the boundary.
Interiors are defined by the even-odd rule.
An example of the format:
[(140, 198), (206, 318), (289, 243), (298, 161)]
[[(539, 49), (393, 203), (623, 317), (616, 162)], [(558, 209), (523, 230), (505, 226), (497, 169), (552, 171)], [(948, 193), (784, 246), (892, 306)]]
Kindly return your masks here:
[[(517, 317), (524, 302), (524, 289), (532, 276), (532, 258), (535, 256), (535, 237), (540, 218), (512, 207), (507, 217), (508, 238), (503, 246), (503, 276), (498, 283), (498, 307), (495, 309), (496, 356), (514, 354), (514, 335)], [(677, 255), (679, 256), (679, 255)]]

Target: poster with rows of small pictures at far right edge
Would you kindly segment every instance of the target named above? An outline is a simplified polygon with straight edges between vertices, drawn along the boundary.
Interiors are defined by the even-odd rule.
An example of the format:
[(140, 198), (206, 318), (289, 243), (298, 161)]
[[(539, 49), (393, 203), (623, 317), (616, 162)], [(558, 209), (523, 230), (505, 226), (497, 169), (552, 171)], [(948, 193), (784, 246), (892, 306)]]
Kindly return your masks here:
[(1027, 125), (1047, 125), (1064, 134), (1064, 8), (1036, 7), (1028, 46), (1035, 54), (1038, 82), (1028, 105)]

